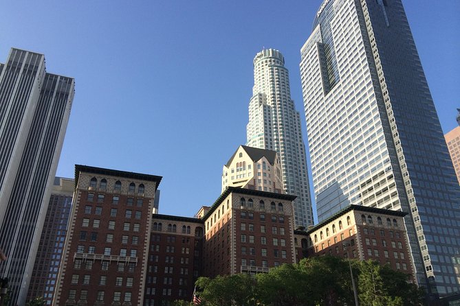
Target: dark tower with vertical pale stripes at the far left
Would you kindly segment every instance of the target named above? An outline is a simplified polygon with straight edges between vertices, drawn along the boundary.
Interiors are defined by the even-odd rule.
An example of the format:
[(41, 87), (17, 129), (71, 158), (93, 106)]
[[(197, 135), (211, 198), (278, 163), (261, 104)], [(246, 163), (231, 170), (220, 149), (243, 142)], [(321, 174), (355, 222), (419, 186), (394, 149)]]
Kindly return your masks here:
[(42, 54), (11, 49), (0, 65), (0, 277), (24, 305), (74, 99), (74, 79)]

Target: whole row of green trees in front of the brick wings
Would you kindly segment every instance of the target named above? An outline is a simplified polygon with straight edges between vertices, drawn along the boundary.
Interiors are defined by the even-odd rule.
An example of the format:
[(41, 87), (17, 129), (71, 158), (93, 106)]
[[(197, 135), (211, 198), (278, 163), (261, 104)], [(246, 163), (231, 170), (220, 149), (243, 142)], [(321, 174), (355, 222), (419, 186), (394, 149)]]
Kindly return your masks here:
[[(284, 264), (268, 273), (200, 277), (197, 288), (206, 306), (354, 305), (350, 265), (358, 284), (360, 306), (421, 305), (423, 292), (408, 283), (408, 275), (380, 266), (322, 256)], [(182, 306), (182, 305), (179, 305)]]

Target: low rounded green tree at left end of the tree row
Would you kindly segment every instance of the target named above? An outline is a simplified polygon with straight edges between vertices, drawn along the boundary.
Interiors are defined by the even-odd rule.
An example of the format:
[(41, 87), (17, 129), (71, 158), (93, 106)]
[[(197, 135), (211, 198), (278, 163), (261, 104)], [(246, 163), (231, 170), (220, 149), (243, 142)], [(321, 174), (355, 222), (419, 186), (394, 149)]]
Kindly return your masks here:
[(201, 305), (249, 306), (255, 304), (255, 283), (248, 274), (217, 276), (215, 279), (199, 277), (196, 283)]

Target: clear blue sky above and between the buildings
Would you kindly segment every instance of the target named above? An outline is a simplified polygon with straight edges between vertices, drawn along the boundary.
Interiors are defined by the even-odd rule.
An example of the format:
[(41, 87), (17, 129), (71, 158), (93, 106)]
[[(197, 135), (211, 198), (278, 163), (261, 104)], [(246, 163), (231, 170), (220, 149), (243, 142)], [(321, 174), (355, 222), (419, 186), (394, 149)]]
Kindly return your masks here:
[[(0, 62), (29, 49), (76, 79), (58, 176), (76, 163), (163, 176), (160, 213), (192, 216), (217, 199), (222, 165), (245, 143), (263, 47), (283, 52), (303, 114), (299, 50), (320, 2), (2, 0)], [(460, 1), (404, 7), (448, 132), (460, 107)]]

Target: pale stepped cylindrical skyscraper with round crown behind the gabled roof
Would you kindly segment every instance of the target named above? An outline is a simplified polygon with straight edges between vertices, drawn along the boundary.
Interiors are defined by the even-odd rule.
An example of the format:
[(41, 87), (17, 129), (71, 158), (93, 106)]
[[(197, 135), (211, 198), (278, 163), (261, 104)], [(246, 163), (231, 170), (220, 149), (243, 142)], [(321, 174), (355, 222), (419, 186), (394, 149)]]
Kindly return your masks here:
[(264, 49), (254, 58), (246, 145), (278, 152), (283, 189), (297, 196), (294, 222), (296, 226), (313, 225), (300, 115), (291, 99), (283, 54), (278, 50)]

